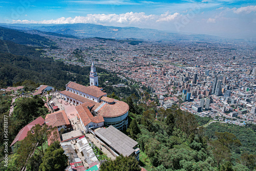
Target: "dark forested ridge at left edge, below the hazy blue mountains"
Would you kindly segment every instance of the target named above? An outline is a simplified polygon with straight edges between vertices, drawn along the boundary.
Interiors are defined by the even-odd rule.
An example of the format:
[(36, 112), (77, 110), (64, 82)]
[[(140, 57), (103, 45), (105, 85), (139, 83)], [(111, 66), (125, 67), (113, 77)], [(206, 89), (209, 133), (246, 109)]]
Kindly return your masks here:
[(10, 40), (16, 44), (50, 47), (54, 42), (37, 34), (28, 34), (22, 31), (0, 27), (0, 39)]

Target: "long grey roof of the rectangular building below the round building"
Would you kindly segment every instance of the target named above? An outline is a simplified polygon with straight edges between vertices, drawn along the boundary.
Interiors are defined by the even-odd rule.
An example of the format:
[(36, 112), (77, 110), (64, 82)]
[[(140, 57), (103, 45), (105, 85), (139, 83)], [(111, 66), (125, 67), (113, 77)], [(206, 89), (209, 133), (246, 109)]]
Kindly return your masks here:
[(123, 134), (112, 125), (106, 129), (99, 129), (95, 134), (101, 141), (104, 141), (117, 153), (122, 154), (123, 156), (130, 156), (133, 154), (135, 152), (133, 147), (138, 144), (138, 142)]

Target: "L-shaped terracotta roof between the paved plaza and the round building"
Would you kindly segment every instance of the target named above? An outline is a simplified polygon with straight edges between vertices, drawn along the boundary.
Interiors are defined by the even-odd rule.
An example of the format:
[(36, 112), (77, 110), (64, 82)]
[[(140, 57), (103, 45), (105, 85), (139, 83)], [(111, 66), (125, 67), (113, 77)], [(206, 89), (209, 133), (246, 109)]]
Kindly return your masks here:
[(88, 104), (83, 103), (81, 105), (76, 106), (76, 111), (78, 113), (79, 118), (81, 118), (84, 125), (88, 125), (90, 122), (100, 123), (104, 122), (102, 116), (93, 116), (90, 110), (88, 109)]

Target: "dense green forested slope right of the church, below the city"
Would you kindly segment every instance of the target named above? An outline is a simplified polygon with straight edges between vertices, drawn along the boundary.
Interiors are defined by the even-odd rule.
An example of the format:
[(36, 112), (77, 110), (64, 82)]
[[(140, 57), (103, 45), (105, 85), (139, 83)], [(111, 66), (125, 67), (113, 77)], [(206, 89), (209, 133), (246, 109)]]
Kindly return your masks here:
[(193, 114), (127, 103), (136, 113), (130, 110), (127, 134), (139, 142), (140, 165), (147, 170), (256, 169), (255, 132), (250, 127), (214, 123), (205, 130)]

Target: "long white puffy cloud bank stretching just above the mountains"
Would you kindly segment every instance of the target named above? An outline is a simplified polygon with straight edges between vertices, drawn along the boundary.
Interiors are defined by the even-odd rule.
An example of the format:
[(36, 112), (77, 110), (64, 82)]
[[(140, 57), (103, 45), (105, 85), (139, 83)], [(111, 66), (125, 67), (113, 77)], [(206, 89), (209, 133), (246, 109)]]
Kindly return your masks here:
[(13, 23), (23, 24), (75, 24), (91, 23), (100, 25), (113, 26), (152, 26), (157, 22), (172, 22), (172, 20), (181, 16), (179, 13), (169, 14), (166, 12), (162, 15), (146, 15), (144, 12), (127, 12), (123, 14), (87, 14), (86, 16), (60, 17), (51, 20), (13, 20)]

